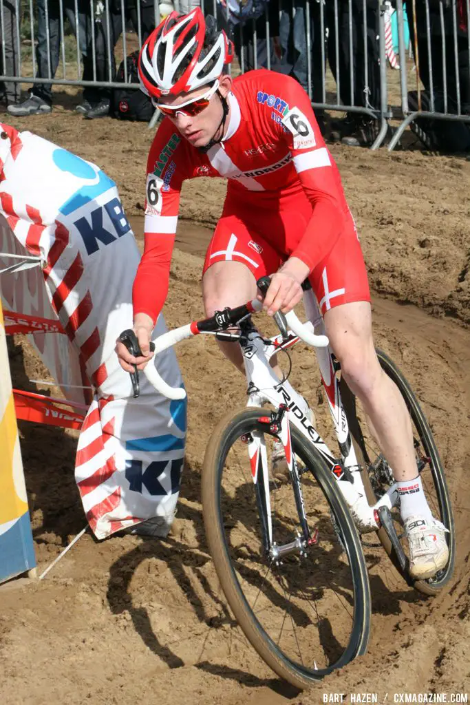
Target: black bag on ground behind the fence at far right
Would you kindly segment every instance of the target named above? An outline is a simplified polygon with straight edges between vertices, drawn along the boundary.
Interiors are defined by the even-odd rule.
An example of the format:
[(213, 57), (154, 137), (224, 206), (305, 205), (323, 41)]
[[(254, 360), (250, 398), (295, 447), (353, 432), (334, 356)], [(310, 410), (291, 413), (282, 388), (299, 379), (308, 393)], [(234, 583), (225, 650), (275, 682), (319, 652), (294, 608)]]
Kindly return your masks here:
[[(408, 93), (409, 110), (418, 110), (418, 94), (416, 91)], [(421, 110), (431, 110), (429, 93), (421, 91)], [(435, 92), (434, 110), (444, 112), (444, 95)], [(457, 114), (457, 104), (447, 99), (447, 112)], [(416, 118), (410, 125), (413, 132), (419, 137), (427, 149), (436, 152), (469, 152), (470, 151), (470, 123), (459, 120), (438, 120), (433, 118)]]

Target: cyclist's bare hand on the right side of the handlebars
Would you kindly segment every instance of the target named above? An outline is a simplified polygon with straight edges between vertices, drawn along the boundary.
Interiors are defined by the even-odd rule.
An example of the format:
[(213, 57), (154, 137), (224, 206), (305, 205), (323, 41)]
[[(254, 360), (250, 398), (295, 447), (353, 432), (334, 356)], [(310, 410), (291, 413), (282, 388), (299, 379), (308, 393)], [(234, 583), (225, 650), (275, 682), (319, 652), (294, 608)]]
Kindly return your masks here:
[[(297, 257), (291, 257), (271, 275), (271, 286), (264, 298), (263, 308), (268, 316), (277, 311), (288, 313), (302, 299), (302, 282), (309, 275), (309, 267)], [(260, 297), (262, 300), (262, 297)]]

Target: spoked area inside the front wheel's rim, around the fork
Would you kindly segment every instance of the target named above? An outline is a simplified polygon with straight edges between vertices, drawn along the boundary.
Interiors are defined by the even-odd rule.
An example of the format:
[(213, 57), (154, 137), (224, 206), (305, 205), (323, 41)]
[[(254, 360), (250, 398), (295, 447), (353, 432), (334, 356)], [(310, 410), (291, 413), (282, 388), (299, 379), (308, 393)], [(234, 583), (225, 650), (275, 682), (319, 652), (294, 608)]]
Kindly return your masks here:
[[(278, 482), (271, 472), (272, 444), (271, 436), (266, 436), (273, 541), (282, 547), (297, 538), (301, 525), (290, 478)], [(313, 517), (315, 527), (324, 534), (321, 547), (311, 546), (306, 557), (289, 555), (275, 565), (273, 557), (266, 556), (264, 551), (256, 489), (245, 443), (234, 444), (225, 467), (223, 502), (224, 515), (228, 518), (225, 531), (245, 599), (263, 629), (289, 658), (315, 670), (317, 663), (323, 668), (328, 666), (332, 655), (337, 657), (347, 644), (354, 620), (348, 600), (354, 599), (354, 592), (350, 566), (336, 548), (333, 529), (328, 529), (328, 503), (319, 485), (310, 473), (302, 474), (304, 503), (311, 510), (307, 520)], [(328, 565), (323, 565), (325, 560)], [(328, 577), (327, 571), (333, 571), (333, 567), (337, 568), (342, 586)], [(338, 604), (342, 607), (340, 612)]]

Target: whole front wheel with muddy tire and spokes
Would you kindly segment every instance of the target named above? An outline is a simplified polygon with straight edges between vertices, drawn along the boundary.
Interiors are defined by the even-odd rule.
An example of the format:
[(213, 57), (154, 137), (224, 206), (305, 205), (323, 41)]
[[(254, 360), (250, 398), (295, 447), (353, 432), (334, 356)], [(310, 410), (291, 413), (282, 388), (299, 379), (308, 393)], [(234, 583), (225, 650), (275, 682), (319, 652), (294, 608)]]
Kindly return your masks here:
[[(302, 536), (290, 479), (271, 472), (276, 436), (266, 410), (230, 413), (216, 427), (204, 458), (202, 506), (211, 556), (225, 597), (254, 649), (295, 687), (309, 687), (364, 654), (370, 594), (357, 529), (328, 467), (292, 425), (301, 494), (313, 540), (279, 558)], [(253, 479), (250, 443), (266, 449), (264, 474)], [(260, 501), (260, 487), (267, 501)], [(267, 522), (267, 523), (266, 523)], [(271, 541), (266, 533), (271, 524)]]

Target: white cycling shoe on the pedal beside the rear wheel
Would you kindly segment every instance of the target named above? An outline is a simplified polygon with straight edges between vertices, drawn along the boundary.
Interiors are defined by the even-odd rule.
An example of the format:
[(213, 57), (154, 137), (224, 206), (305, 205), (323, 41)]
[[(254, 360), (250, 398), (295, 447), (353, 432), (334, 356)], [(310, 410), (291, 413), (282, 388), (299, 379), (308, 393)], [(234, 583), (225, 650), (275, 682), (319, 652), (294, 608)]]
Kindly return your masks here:
[(449, 560), (445, 540), (448, 529), (437, 519), (422, 516), (408, 517), (404, 532), (409, 544), (409, 575), (415, 580), (426, 580), (442, 570)]

